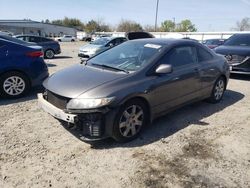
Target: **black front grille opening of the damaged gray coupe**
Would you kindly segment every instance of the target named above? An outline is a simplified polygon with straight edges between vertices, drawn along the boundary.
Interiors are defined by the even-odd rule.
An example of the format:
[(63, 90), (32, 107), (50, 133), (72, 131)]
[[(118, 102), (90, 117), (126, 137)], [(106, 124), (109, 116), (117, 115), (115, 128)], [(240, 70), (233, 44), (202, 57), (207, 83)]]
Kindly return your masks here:
[(67, 97), (63, 97), (60, 95), (57, 95), (55, 93), (52, 93), (49, 90), (46, 90), (44, 93), (44, 98), (52, 105), (56, 106), (60, 109), (66, 109), (67, 103), (70, 100)]

